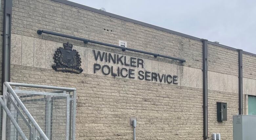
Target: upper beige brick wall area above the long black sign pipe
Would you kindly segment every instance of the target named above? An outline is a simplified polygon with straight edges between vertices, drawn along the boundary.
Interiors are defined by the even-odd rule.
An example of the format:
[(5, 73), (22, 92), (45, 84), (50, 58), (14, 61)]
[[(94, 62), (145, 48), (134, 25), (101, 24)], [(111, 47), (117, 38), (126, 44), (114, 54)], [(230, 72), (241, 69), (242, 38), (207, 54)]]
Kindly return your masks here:
[(13, 0), (12, 33), (65, 42), (37, 35), (37, 29), (112, 44), (125, 40), (129, 48), (181, 57), (185, 66), (202, 69), (202, 42), (48, 0)]

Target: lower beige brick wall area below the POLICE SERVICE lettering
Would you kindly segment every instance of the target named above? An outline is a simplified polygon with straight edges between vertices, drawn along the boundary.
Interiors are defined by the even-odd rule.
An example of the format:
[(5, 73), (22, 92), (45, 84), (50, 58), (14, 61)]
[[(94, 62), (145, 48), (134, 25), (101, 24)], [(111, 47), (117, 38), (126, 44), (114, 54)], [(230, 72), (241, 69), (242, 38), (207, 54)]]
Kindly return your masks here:
[(202, 139), (202, 89), (19, 65), (11, 75), (11, 82), (75, 87), (77, 140), (132, 139), (130, 117), (138, 118), (137, 139)]

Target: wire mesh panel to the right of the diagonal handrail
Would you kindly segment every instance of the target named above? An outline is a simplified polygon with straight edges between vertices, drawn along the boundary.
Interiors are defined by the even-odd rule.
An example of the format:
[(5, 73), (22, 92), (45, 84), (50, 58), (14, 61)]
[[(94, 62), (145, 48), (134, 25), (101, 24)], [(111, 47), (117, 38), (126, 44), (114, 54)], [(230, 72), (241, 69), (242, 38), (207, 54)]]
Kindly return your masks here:
[(18, 94), (49, 140), (66, 139), (66, 98), (50, 95), (27, 97)]

